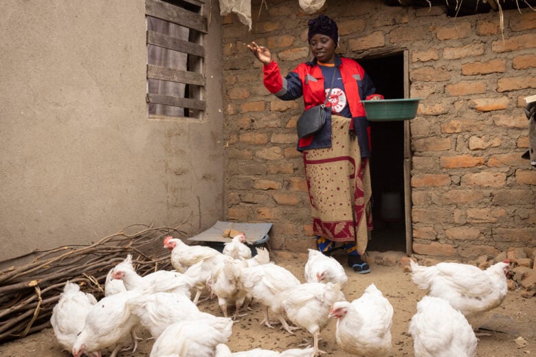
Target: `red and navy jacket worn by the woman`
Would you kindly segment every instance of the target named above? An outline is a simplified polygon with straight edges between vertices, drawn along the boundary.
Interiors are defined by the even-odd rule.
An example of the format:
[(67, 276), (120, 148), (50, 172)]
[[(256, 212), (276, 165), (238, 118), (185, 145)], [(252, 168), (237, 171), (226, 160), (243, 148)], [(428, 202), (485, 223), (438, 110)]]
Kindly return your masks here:
[[(370, 157), (370, 126), (366, 119), (361, 100), (366, 100), (375, 94), (372, 80), (367, 76), (363, 67), (355, 60), (336, 56), (335, 66), (339, 68), (344, 83), (344, 91), (352, 114), (353, 128), (359, 140), (361, 157)], [(303, 96), (305, 110), (324, 103), (324, 77), (316, 60), (300, 63), (298, 67), (283, 78), (277, 62), (270, 62), (263, 67), (265, 87), (281, 100), (295, 100)], [(354, 95), (358, 94), (358, 95)], [(304, 137), (298, 141), (298, 150), (331, 147), (331, 117), (326, 126), (315, 135)]]

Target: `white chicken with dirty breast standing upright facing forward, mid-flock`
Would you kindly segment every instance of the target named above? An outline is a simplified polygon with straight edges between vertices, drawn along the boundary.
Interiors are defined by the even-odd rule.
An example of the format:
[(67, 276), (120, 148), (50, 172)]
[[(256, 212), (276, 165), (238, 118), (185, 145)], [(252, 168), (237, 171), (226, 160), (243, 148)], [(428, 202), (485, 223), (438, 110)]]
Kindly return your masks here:
[(227, 260), (207, 280), (212, 294), (218, 297), (223, 316), (227, 317), (227, 301), (234, 303), (234, 320), (238, 318), (240, 309), (249, 295), (240, 279), (242, 267), (243, 264), (239, 260)]

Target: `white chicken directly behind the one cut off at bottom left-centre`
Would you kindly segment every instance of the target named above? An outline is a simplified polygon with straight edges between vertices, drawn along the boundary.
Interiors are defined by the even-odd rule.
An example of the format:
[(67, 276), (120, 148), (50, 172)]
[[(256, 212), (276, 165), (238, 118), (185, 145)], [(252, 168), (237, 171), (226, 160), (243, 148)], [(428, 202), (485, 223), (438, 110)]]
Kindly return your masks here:
[[(188, 319), (196, 321), (218, 320), (221, 323), (214, 327), (223, 326), (225, 330), (228, 320), (202, 312), (185, 295), (170, 292), (144, 293), (128, 301), (133, 314), (139, 317), (140, 324), (149, 330), (153, 338), (158, 338), (166, 327)], [(225, 331), (222, 331), (225, 332)]]

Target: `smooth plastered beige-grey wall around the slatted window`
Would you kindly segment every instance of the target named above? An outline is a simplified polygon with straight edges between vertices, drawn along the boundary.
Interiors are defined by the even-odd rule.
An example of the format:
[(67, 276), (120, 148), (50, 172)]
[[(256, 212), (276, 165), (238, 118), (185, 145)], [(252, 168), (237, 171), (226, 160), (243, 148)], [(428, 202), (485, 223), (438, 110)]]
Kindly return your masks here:
[[(220, 17), (202, 120), (146, 108), (145, 2), (0, 3), (0, 261), (223, 212)], [(216, 29), (216, 30), (212, 30)]]

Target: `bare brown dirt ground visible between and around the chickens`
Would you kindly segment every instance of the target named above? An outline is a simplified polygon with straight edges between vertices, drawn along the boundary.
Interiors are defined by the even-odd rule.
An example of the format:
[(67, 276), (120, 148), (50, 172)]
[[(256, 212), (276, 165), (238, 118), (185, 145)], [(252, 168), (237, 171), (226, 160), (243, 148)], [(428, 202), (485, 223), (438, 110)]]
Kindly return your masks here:
[[(346, 266), (345, 257), (340, 253), (337, 259)], [(373, 253), (371, 253), (373, 254)], [(373, 256), (373, 255), (372, 255)], [(288, 268), (300, 281), (303, 281), (303, 269), (307, 256), (305, 254), (277, 254), (273, 260)], [(425, 292), (419, 290), (411, 281), (410, 273), (405, 273), (401, 266), (379, 266), (373, 264), (372, 272), (358, 275), (347, 268), (348, 284), (343, 289), (346, 299), (353, 300), (361, 296), (368, 284), (375, 283), (394, 308), (392, 325), (392, 354), (391, 356), (413, 356), (413, 341), (407, 333), (410, 319), (416, 312), (416, 303)], [(221, 315), (216, 299), (200, 303), (203, 311)], [(269, 329), (260, 325), (263, 313), (260, 306), (253, 304), (253, 311), (236, 321), (233, 333), (227, 345), (232, 352), (239, 352), (253, 348), (273, 349), (282, 351), (289, 348), (300, 348), (302, 343), (312, 343), (312, 337), (304, 330), (298, 330), (294, 335), (276, 329)], [(504, 356), (531, 356), (536, 355), (536, 298), (525, 299), (519, 290), (508, 292), (502, 305), (488, 312), (479, 323), (486, 327), (489, 336), (480, 336), (477, 356), (504, 357)], [(479, 320), (479, 322), (480, 322)], [(342, 357), (348, 356), (337, 346), (335, 341), (335, 325), (333, 319), (321, 333), (320, 349), (327, 353), (322, 356)], [(147, 332), (139, 333), (148, 338)], [(137, 351), (122, 352), (120, 356), (149, 356), (153, 341), (142, 341)], [(103, 356), (109, 356), (104, 352)], [(56, 342), (52, 329), (45, 329), (16, 341), (0, 345), (1, 357), (41, 356), (41, 357), (68, 357), (68, 352), (62, 351)]]

